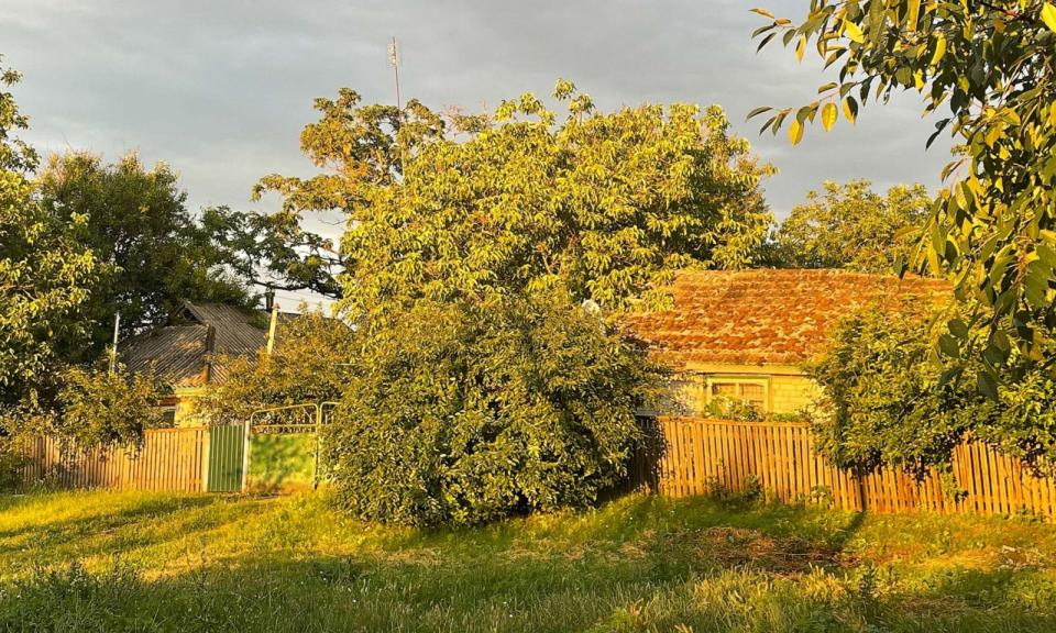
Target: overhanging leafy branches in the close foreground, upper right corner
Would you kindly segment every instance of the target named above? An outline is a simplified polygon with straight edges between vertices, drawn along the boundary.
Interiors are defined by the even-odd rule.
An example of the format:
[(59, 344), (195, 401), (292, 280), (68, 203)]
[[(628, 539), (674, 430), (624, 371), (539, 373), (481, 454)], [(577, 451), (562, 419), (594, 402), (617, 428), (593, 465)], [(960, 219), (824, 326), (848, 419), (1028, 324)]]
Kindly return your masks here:
[[(817, 100), (776, 112), (765, 130), (789, 121), (796, 143), (816, 115), (831, 129), (840, 106), (854, 121), (870, 96), (898, 91), (922, 95), (925, 113), (948, 110), (932, 138), (948, 129), (963, 154), (943, 173), (948, 186), (921, 226), (914, 263), (948, 269), (969, 322), (990, 334), (981, 349), (1008, 337), (1026, 358), (1056, 357), (1056, 7), (815, 0), (799, 24), (756, 12), (771, 20), (756, 31), (760, 47), (780, 34), (799, 57), (813, 43), (826, 67), (839, 68)], [(997, 381), (986, 357), (980, 367)]]

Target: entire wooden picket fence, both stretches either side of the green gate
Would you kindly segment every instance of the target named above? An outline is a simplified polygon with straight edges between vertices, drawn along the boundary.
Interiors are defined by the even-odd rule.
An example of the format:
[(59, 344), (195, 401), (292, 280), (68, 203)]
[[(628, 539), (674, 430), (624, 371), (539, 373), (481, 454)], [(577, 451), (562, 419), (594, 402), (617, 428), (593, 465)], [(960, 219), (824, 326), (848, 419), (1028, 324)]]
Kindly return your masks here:
[[(815, 452), (805, 424), (660, 419), (654, 431), (657, 449), (638, 460), (635, 475), (661, 495), (703, 495), (716, 487), (737, 492), (755, 479), (768, 498), (785, 502), (816, 499), (872, 512), (1028, 512), (1056, 519), (1056, 479), (1035, 477), (1018, 459), (981, 443), (954, 452), (961, 493), (952, 496), (935, 473), (917, 481), (892, 468), (862, 477), (836, 468)], [(138, 451), (63, 452), (54, 438), (37, 437), (26, 445), (23, 476), (30, 484), (66, 488), (201, 492), (208, 489), (209, 446), (205, 427), (147, 431)]]

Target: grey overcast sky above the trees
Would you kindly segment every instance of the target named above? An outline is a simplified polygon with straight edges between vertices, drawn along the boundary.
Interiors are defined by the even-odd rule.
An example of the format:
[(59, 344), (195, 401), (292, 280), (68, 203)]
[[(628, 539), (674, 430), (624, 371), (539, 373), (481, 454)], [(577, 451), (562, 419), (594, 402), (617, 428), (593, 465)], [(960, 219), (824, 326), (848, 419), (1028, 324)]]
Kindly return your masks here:
[[(393, 102), (387, 43), (400, 43), (404, 98), (430, 107), (494, 107), (558, 77), (612, 109), (644, 101), (723, 106), (734, 130), (779, 174), (766, 184), (778, 216), (823, 180), (934, 189), (948, 145), (925, 152), (933, 123), (916, 97), (869, 108), (856, 126), (809, 129), (791, 147), (745, 115), (809, 102), (820, 66), (780, 46), (756, 54), (765, 5), (800, 18), (806, 0), (0, 0), (0, 54), (24, 74), (15, 96), (24, 137), (45, 152), (139, 151), (182, 176), (193, 208), (251, 208), (263, 175), (308, 175), (298, 148), (311, 100), (338, 87)], [(773, 45), (771, 45), (773, 46)], [(274, 206), (264, 200), (258, 208)]]

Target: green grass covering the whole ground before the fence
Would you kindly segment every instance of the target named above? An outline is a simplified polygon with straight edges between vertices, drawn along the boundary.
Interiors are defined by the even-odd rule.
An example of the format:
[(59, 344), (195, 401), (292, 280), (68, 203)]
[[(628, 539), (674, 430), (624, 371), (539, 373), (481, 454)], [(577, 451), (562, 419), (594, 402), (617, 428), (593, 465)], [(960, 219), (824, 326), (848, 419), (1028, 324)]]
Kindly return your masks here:
[(1056, 631), (1056, 529), (630, 496), (484, 529), (321, 497), (0, 497), (0, 630)]

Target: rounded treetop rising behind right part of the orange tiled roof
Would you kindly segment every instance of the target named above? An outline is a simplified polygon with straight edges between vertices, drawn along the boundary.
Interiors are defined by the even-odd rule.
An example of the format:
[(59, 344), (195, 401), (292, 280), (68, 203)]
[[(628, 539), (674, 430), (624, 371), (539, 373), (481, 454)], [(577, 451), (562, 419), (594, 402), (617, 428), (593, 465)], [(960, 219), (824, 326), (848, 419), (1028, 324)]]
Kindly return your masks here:
[(911, 233), (932, 204), (922, 185), (897, 185), (887, 196), (873, 192), (868, 180), (826, 181), (823, 187), (807, 193), (806, 202), (781, 223), (774, 235), (777, 264), (882, 274), (909, 257)]

